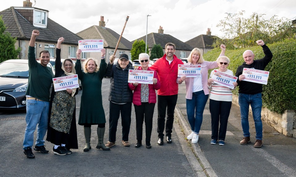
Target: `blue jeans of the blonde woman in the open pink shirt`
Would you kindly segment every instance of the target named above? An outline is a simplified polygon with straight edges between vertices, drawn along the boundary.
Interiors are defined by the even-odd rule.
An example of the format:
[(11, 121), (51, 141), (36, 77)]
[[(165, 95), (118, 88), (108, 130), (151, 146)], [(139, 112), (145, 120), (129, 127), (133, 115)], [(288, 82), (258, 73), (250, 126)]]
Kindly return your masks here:
[(205, 95), (204, 90), (201, 90), (192, 93), (192, 100), (186, 99), (188, 122), (192, 132), (196, 134), (199, 134), (201, 124), (203, 123), (204, 107), (206, 106), (208, 98), (209, 95)]

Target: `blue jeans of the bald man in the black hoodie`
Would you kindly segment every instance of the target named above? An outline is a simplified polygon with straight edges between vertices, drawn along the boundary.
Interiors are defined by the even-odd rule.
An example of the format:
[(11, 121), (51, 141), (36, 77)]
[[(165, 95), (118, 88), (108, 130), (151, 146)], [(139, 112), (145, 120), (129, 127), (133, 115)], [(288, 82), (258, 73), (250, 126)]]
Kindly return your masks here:
[(250, 136), (248, 118), (249, 118), (249, 105), (251, 105), (252, 112), (253, 112), (253, 119), (255, 122), (256, 140), (262, 140), (261, 93), (257, 93), (253, 95), (239, 93), (238, 104), (240, 105), (240, 109), (241, 109), (241, 127), (243, 128), (244, 137)]

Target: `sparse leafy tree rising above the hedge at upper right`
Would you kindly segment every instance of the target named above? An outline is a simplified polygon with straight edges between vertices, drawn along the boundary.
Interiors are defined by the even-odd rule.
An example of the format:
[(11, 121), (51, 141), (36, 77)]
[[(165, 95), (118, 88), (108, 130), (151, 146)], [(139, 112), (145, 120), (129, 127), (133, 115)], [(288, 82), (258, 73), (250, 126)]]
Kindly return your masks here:
[(265, 19), (265, 14), (253, 13), (245, 18), (245, 11), (236, 14), (226, 13), (227, 17), (220, 20), (216, 26), (224, 33), (220, 39), (216, 38), (214, 47), (221, 43), (228, 48), (241, 48), (256, 45), (258, 39), (265, 43), (273, 43), (294, 37), (295, 28), (292, 22), (286, 18), (279, 19), (276, 15)]

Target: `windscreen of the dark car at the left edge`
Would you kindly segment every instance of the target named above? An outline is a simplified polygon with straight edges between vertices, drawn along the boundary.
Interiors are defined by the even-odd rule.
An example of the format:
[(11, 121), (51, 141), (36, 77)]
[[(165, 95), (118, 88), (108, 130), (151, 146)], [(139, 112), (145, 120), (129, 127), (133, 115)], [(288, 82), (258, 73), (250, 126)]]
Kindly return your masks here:
[(0, 65), (0, 76), (29, 77), (29, 66), (27, 63), (3, 62)]

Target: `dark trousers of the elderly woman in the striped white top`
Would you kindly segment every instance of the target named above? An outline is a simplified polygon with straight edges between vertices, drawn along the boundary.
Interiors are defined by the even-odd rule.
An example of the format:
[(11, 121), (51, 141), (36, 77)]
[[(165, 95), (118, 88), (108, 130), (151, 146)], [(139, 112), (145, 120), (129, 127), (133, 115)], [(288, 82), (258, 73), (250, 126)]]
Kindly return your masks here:
[(225, 140), (231, 104), (231, 101), (217, 101), (210, 99), (212, 140)]

